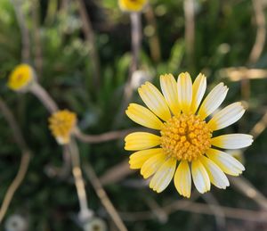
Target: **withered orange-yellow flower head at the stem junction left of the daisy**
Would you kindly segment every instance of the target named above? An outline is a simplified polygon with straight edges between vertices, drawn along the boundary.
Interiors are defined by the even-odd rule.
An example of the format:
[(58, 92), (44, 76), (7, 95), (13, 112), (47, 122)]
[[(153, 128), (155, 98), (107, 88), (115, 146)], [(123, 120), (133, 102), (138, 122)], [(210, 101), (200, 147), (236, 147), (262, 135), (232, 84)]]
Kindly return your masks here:
[(77, 115), (68, 110), (57, 111), (49, 118), (49, 128), (59, 144), (68, 144), (77, 123)]

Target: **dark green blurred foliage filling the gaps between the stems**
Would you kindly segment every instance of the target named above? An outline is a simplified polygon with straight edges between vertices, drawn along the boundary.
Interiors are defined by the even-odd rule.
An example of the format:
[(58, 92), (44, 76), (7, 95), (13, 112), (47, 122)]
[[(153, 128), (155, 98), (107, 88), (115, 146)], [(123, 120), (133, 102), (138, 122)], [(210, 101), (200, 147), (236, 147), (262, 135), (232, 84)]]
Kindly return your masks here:
[[(63, 4), (67, 2), (67, 6)], [(112, 129), (134, 127), (123, 117), (115, 123), (124, 101), (123, 90), (131, 62), (131, 37), (129, 15), (120, 12), (116, 0), (85, 1), (95, 33), (96, 49), (100, 56), (100, 86), (93, 84), (92, 50), (85, 42), (76, 1), (24, 1), (30, 39), (30, 64), (37, 71), (40, 84), (53, 96), (61, 109), (76, 111), (79, 127), (90, 134), (100, 134)], [(178, 73), (188, 70), (192, 77), (199, 71), (207, 75), (209, 87), (224, 81), (229, 87), (226, 103), (242, 100), (240, 82), (224, 78), (220, 70), (226, 67), (246, 66), (255, 42), (255, 18), (251, 1), (248, 0), (197, 0), (195, 1), (195, 46), (193, 55), (186, 52), (184, 38), (185, 20), (182, 0), (151, 0), (152, 12), (157, 23), (156, 33), (150, 33), (150, 21), (142, 15), (142, 54), (140, 69), (145, 70), (158, 84), (158, 76), (165, 72)], [(33, 12), (36, 11), (34, 14)], [(35, 17), (36, 15), (36, 17)], [(152, 31), (153, 32), (153, 31)], [(40, 41), (36, 40), (39, 33)], [(151, 36), (158, 37), (160, 58), (152, 59)], [(37, 49), (41, 48), (38, 57)], [(41, 68), (37, 60), (41, 59)], [(252, 67), (266, 69), (266, 48)], [(48, 112), (33, 95), (18, 95), (6, 87), (6, 79), (13, 67), (21, 62), (21, 36), (16, 15), (9, 0), (0, 1), (0, 91), (12, 108), (27, 143), (32, 159), (27, 177), (15, 194), (7, 216), (20, 213), (29, 220), (29, 230), (78, 230), (73, 217), (77, 215), (76, 188), (71, 177), (61, 180), (53, 177), (52, 168), (61, 168), (62, 150), (47, 128)], [(223, 78), (223, 79), (222, 79)], [(250, 81), (249, 108), (239, 124), (223, 132), (248, 132), (266, 110), (266, 79)], [(209, 89), (210, 89), (209, 88)], [(138, 101), (134, 94), (133, 101)], [(225, 105), (224, 104), (224, 105)], [(0, 114), (0, 202), (12, 182), (20, 164), (20, 150), (14, 144), (12, 131)], [(245, 153), (247, 177), (263, 194), (267, 194), (266, 140), (263, 132), (255, 144)], [(105, 144), (79, 143), (81, 158), (89, 161), (98, 175), (124, 161), (128, 153), (123, 140)], [(162, 194), (149, 188), (133, 189), (125, 186), (128, 179), (141, 179), (138, 174), (120, 183), (106, 186), (112, 202), (120, 211), (148, 210), (146, 198), (153, 198), (160, 205), (180, 200), (174, 186)], [(92, 186), (87, 183), (89, 206), (109, 220)], [(255, 208), (232, 187), (227, 190), (212, 188), (220, 204), (240, 208)], [(198, 200), (202, 202), (202, 199)], [(166, 223), (157, 219), (126, 222), (130, 230), (215, 230), (214, 217), (177, 211)], [(244, 227), (229, 220), (228, 227)], [(3, 229), (3, 227), (1, 227)], [(266, 228), (266, 227), (265, 227)], [(1, 230), (2, 230), (1, 229)], [(230, 230), (230, 229), (229, 229)], [(244, 229), (245, 230), (245, 229)]]

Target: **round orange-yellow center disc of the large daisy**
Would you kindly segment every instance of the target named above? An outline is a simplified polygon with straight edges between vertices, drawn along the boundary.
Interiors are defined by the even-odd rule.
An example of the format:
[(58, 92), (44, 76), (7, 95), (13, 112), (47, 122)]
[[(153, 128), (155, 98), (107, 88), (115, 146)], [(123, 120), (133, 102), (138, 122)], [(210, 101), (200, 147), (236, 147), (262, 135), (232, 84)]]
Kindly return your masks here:
[(179, 161), (197, 160), (211, 147), (211, 131), (198, 115), (174, 116), (166, 121), (160, 134), (164, 152)]

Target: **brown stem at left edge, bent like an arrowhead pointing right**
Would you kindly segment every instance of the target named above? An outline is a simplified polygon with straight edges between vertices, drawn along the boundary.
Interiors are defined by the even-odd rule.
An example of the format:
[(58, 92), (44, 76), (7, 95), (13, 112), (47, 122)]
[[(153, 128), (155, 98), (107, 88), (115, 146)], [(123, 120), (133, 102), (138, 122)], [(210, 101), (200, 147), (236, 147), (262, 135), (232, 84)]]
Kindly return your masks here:
[(20, 128), (12, 115), (12, 112), (10, 109), (7, 107), (7, 105), (4, 103), (2, 98), (0, 97), (0, 110), (4, 115), (5, 120), (9, 123), (9, 126), (12, 128), (12, 133), (15, 138), (16, 143), (20, 147), (21, 150), (21, 161), (20, 161), (20, 168), (18, 170), (17, 176), (13, 179), (11, 186), (7, 189), (5, 195), (4, 195), (4, 200), (0, 208), (0, 224), (2, 220), (4, 219), (4, 215), (6, 213), (6, 210), (8, 209), (12, 197), (19, 188), (22, 180), (24, 179), (27, 170), (28, 170), (28, 163), (30, 160), (30, 153), (28, 151), (27, 144), (21, 134)]

